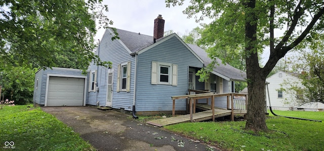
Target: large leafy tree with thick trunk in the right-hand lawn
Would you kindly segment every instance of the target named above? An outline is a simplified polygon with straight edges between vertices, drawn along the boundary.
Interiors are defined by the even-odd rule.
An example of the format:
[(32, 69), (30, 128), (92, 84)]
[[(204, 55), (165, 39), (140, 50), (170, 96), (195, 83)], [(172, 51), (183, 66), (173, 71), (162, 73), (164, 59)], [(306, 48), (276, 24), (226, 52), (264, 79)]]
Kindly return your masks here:
[[(183, 1), (167, 0), (167, 7), (182, 5)], [(324, 2), (321, 0), (192, 0), (190, 3), (191, 5), (184, 11), (188, 17), (195, 17), (197, 20), (203, 20), (205, 17), (214, 19), (210, 28), (215, 29), (215, 33), (219, 34), (215, 39), (221, 43), (218, 48), (229, 47), (233, 51), (241, 50), (246, 59), (249, 89), (246, 129), (266, 131), (265, 79), (278, 60), (301, 41), (311, 42), (313, 33), (322, 33)], [(274, 29), (285, 32), (275, 37)], [(270, 57), (262, 68), (258, 62), (258, 54), (265, 46), (270, 48)], [(213, 52), (209, 54), (212, 56)]]

